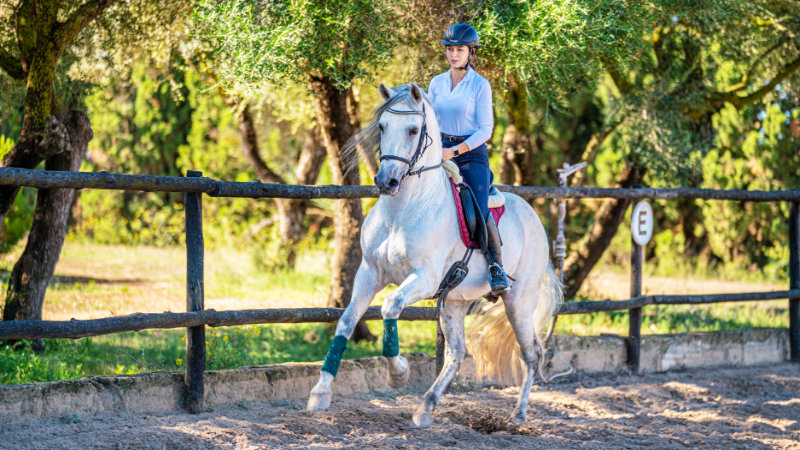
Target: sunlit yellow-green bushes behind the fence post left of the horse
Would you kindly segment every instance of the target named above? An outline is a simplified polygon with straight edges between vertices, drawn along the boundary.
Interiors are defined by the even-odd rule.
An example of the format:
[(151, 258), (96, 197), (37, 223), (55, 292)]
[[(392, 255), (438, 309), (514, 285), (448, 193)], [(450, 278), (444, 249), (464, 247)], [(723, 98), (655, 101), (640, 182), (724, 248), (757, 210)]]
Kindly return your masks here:
[[(129, 79), (96, 89), (87, 106), (95, 137), (84, 170), (172, 176), (201, 170), (216, 179), (256, 178), (242, 154), (234, 112), (178, 54), (161, 69), (138, 65)], [(295, 148), (284, 146), (284, 152), (286, 147)], [(79, 205), (74, 237), (107, 244), (183, 243), (182, 194), (88, 190)], [(251, 199), (206, 198), (206, 243), (252, 242), (247, 230), (270, 207)]]

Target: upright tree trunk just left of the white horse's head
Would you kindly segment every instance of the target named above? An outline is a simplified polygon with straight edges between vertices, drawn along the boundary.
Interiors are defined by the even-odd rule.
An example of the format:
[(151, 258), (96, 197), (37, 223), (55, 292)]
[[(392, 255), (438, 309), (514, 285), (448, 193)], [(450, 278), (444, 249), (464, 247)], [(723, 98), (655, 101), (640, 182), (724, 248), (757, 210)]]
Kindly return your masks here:
[[(339, 91), (333, 80), (320, 77), (311, 77), (310, 87), (334, 184), (361, 184), (358, 171), (347, 171), (347, 164), (341, 158), (342, 148), (354, 131), (349, 114), (352, 105), (348, 108), (348, 97), (352, 97), (347, 92), (349, 89)], [(364, 214), (360, 199), (338, 199), (333, 201), (333, 205), (334, 249), (328, 306), (341, 308), (350, 303), (353, 280), (361, 264), (359, 234)], [(352, 339), (376, 338), (362, 321), (356, 326)]]

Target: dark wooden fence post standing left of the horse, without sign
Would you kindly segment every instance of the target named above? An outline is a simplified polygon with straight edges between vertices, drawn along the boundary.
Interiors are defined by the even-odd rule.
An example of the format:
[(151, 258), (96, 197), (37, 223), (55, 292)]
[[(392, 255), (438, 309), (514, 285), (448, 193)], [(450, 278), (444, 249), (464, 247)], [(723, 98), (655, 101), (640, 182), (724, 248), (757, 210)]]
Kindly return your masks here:
[[(186, 172), (187, 177), (202, 177), (197, 170)], [(186, 310), (204, 309), (203, 300), (203, 194), (184, 194), (186, 209)], [(205, 325), (186, 328), (186, 411), (203, 411), (203, 371), (206, 368)]]

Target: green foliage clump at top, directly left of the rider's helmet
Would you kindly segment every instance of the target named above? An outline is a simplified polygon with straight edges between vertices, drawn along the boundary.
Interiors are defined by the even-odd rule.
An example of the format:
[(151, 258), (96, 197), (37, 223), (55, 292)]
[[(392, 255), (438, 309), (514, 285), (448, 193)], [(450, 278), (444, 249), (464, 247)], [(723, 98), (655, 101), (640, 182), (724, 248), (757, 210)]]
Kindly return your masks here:
[(202, 0), (193, 18), (232, 92), (258, 91), (264, 81), (305, 84), (309, 76), (346, 89), (391, 54), (397, 41), (390, 6), (381, 0)]

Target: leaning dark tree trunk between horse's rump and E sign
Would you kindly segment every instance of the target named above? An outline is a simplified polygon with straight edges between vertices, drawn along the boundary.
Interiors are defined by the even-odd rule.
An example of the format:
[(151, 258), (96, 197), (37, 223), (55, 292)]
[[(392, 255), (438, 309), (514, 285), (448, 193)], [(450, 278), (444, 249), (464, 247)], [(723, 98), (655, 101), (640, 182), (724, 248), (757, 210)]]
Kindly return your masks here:
[[(644, 178), (644, 169), (626, 165), (617, 176), (616, 187), (629, 188), (641, 183)], [(583, 281), (592, 271), (592, 268), (603, 252), (606, 251), (611, 239), (617, 234), (617, 229), (625, 219), (625, 211), (630, 200), (607, 200), (595, 214), (594, 225), (586, 236), (583, 247), (573, 253), (564, 263), (564, 285), (566, 298), (574, 297), (583, 284)]]

